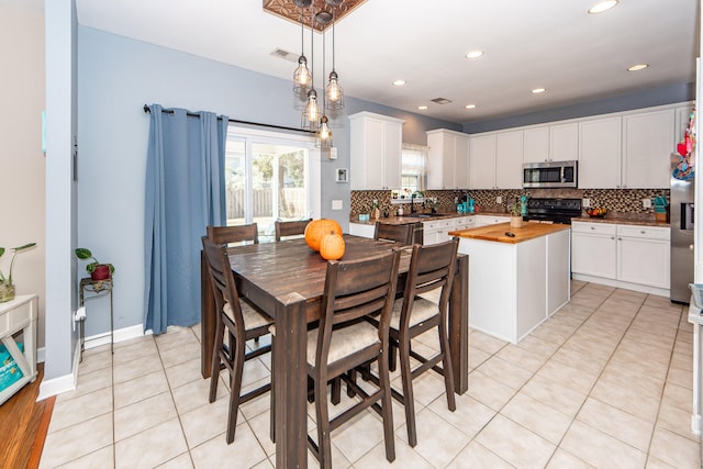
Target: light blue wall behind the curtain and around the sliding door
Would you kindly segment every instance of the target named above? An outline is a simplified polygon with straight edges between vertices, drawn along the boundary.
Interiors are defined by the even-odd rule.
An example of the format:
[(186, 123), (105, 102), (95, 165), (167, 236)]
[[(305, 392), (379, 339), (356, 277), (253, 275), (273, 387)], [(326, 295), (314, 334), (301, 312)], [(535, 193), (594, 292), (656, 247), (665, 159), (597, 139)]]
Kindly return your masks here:
[[(287, 80), (214, 60), (78, 27), (78, 245), (115, 265), (115, 328), (141, 324), (144, 294), (144, 177), (148, 141), (145, 103), (212, 111), (231, 119), (290, 127), (300, 125)], [(406, 121), (403, 139), (426, 144), (425, 132), (461, 126), (346, 98), (345, 113), (371, 111)], [(322, 161), (322, 216), (348, 226), (349, 185), (334, 181), (349, 168), (345, 125), (333, 129), (338, 158)], [(350, 176), (353, 177), (353, 176)], [(331, 210), (343, 200), (345, 210)], [(82, 268), (82, 265), (80, 266)], [(87, 322), (87, 335), (109, 330), (109, 314)]]

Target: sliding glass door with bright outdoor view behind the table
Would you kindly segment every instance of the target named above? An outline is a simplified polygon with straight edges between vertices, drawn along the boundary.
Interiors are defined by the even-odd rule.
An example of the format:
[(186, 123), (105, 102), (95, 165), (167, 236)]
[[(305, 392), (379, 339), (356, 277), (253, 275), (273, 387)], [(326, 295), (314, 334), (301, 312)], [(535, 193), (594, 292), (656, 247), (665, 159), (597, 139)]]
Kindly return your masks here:
[(230, 125), (225, 154), (227, 225), (256, 222), (274, 241), (276, 220), (320, 217), (314, 138)]

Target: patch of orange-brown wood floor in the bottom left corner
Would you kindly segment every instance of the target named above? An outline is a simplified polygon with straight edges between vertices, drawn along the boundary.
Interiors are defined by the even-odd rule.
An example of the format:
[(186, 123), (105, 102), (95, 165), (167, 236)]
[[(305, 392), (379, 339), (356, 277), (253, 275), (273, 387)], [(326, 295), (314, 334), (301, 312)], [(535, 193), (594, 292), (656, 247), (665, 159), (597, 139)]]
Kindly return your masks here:
[(36, 402), (44, 364), (37, 366), (38, 376), (0, 405), (0, 467), (2, 469), (37, 468), (52, 418), (54, 401)]

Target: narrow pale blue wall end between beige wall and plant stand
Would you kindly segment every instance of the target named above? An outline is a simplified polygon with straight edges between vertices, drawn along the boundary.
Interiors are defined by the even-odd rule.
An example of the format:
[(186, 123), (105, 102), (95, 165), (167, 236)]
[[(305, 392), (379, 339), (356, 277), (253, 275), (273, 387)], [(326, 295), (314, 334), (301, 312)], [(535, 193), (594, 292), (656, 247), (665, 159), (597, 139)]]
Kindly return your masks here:
[[(76, 192), (72, 182), (72, 141), (77, 120), (74, 0), (52, 0), (45, 7), (46, 31), (46, 337), (42, 386), (70, 376), (77, 333)], [(51, 392), (51, 391), (48, 391)]]

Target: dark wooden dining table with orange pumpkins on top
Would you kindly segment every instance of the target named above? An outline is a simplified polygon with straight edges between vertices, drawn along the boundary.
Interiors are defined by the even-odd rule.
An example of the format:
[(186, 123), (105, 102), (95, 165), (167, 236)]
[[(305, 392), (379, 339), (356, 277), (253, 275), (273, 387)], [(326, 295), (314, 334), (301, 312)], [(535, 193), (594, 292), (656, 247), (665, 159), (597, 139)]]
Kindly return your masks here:
[[(342, 260), (373, 256), (395, 243), (344, 235)], [(268, 314), (276, 324), (271, 380), (276, 402), (276, 467), (308, 467), (308, 325), (322, 313), (327, 260), (303, 238), (249, 244), (227, 249), (239, 294)], [(411, 249), (401, 249), (399, 291), (410, 267)], [(201, 256), (201, 373), (210, 377), (216, 325), (215, 305), (204, 257)], [(449, 297), (449, 348), (455, 392), (468, 390), (469, 259), (458, 255)]]

